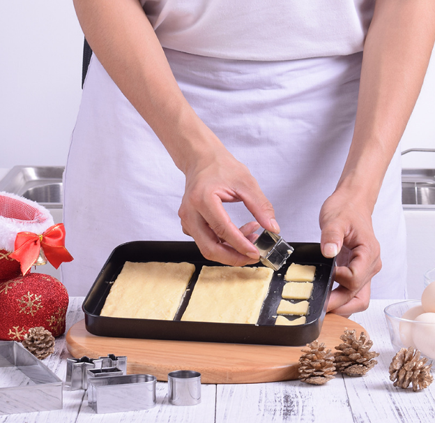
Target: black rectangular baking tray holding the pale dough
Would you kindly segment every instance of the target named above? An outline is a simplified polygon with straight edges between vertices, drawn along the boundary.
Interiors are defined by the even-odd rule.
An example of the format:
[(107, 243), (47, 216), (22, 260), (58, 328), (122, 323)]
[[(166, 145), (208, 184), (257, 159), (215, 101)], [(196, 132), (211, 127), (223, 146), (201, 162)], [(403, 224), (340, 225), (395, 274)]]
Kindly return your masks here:
[[(82, 309), (86, 329), (99, 336), (140, 339), (171, 339), (176, 341), (205, 341), (227, 343), (255, 343), (280, 346), (300, 346), (316, 339), (321, 331), (326, 306), (333, 285), (335, 258), (325, 258), (320, 244), (291, 243), (294, 251), (286, 264), (273, 273), (270, 289), (257, 325), (213, 322), (181, 321), (194, 284), (203, 265), (220, 263), (206, 260), (194, 242), (135, 241), (117, 246), (107, 259), (91, 290), (84, 299)], [(130, 262), (190, 262), (196, 269), (185, 292), (174, 320), (111, 318), (100, 316), (102, 306), (112, 283), (126, 261)], [(275, 326), (276, 310), (280, 303), (284, 274), (292, 262), (315, 265), (314, 289), (310, 298), (307, 322), (296, 326)], [(257, 263), (254, 266), (263, 266)], [(296, 318), (298, 316), (294, 316)]]

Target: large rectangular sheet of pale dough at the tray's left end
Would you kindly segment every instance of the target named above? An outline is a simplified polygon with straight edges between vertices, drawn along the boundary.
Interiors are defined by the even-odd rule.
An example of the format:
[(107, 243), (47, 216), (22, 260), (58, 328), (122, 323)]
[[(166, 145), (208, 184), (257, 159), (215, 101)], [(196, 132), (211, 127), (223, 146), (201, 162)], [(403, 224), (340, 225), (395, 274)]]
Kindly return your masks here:
[(173, 320), (194, 269), (186, 262), (125, 262), (100, 316)]

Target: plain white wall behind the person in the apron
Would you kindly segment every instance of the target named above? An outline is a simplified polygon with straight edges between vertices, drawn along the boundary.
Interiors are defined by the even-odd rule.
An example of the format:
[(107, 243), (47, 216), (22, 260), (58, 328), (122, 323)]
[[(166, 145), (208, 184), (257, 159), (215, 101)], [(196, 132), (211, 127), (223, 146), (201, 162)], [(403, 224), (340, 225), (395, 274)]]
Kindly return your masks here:
[[(1, 1), (0, 40), (0, 168), (64, 165), (82, 92), (83, 34), (73, 0)], [(402, 150), (435, 148), (434, 61)], [(429, 160), (435, 167), (435, 153)], [(418, 165), (420, 154), (404, 158), (404, 166)]]

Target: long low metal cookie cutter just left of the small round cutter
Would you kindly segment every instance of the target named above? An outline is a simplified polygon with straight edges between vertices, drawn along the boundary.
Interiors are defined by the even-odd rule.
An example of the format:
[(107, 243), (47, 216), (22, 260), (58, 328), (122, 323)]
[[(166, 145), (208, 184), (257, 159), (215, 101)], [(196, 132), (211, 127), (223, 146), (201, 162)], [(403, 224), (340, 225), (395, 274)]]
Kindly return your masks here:
[(88, 405), (98, 414), (148, 410), (155, 406), (155, 381), (144, 374), (90, 378)]

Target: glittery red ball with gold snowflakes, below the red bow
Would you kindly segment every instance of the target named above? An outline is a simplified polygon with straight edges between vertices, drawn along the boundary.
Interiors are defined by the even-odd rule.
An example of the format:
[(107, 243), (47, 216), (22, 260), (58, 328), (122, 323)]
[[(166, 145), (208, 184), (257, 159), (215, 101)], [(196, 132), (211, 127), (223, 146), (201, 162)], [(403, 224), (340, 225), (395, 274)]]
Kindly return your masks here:
[(0, 282), (0, 339), (21, 341), (31, 327), (65, 332), (68, 292), (56, 278), (31, 273)]

